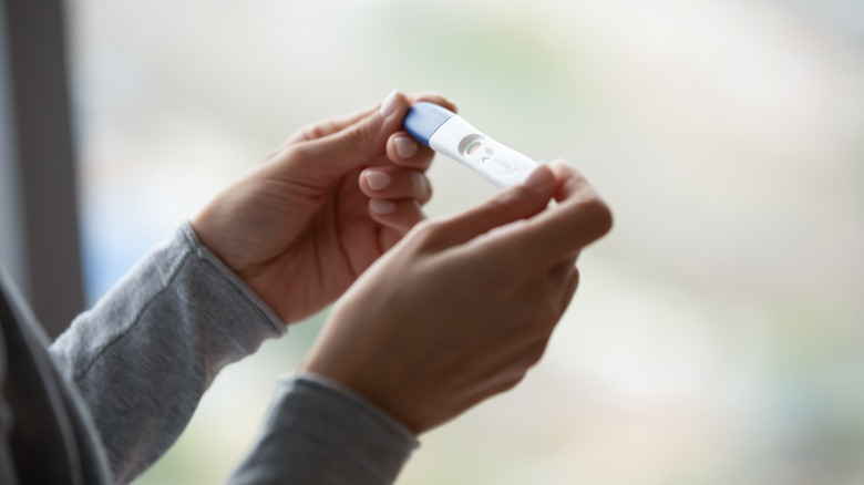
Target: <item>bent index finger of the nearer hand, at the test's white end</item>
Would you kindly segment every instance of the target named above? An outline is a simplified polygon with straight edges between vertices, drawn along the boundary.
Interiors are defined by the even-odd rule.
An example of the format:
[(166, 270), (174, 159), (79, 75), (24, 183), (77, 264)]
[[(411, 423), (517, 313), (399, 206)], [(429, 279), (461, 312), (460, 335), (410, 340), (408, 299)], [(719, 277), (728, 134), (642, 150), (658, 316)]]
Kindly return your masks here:
[(609, 231), (611, 213), (585, 178), (560, 162), (549, 168), (558, 204), (488, 241), (488, 257), (513, 261), (520, 271), (545, 271)]

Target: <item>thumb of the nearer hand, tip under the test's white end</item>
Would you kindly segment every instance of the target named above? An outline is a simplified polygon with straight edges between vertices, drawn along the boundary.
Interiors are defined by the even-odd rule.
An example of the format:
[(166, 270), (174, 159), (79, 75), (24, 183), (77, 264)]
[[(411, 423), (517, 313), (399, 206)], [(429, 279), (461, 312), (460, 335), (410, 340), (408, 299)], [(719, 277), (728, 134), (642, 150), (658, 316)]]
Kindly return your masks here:
[(483, 205), (441, 225), (439, 244), (444, 247), (466, 242), (496, 227), (532, 217), (546, 208), (555, 193), (556, 179), (549, 167), (541, 165), (521, 185), (511, 187)]

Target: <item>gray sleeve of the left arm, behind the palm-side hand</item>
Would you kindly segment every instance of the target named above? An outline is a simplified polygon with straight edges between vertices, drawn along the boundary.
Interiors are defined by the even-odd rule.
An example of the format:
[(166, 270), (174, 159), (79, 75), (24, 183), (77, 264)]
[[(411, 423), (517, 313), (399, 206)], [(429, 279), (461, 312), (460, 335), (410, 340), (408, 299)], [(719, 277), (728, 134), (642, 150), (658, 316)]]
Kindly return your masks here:
[(114, 477), (177, 438), (215, 375), (285, 326), (184, 225), (52, 345), (88, 401)]

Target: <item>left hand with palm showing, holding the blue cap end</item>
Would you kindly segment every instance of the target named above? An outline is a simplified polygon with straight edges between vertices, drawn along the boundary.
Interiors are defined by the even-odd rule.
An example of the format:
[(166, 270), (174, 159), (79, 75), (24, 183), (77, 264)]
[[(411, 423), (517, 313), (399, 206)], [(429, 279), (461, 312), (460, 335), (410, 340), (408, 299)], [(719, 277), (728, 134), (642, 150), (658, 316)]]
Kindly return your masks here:
[(333, 300), (424, 218), (433, 152), (402, 131), (411, 103), (380, 105), (301, 130), (192, 220), (196, 235), (290, 323)]

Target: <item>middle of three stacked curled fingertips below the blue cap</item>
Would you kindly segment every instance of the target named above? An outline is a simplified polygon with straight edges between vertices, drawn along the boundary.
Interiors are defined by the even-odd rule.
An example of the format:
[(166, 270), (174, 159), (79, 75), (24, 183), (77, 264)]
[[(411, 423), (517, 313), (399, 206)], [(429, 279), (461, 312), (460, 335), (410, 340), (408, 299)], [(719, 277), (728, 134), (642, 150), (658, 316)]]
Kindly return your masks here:
[(360, 190), (370, 198), (414, 199), (421, 205), (432, 197), (432, 184), (422, 172), (393, 165), (363, 171)]

